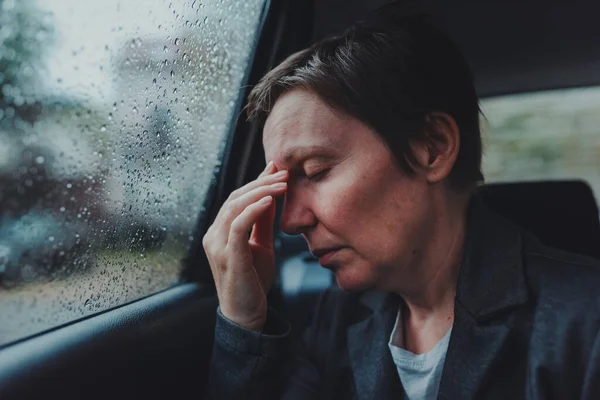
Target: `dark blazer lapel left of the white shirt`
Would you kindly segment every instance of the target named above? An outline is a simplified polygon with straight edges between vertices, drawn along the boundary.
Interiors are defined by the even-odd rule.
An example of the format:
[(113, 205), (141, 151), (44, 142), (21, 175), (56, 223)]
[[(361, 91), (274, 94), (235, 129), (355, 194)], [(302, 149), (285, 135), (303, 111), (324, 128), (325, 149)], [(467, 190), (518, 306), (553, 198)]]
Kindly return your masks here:
[(359, 317), (348, 328), (348, 350), (356, 398), (400, 398), (402, 384), (388, 348), (398, 298), (383, 293), (366, 293), (361, 303), (364, 308), (357, 315), (364, 317)]

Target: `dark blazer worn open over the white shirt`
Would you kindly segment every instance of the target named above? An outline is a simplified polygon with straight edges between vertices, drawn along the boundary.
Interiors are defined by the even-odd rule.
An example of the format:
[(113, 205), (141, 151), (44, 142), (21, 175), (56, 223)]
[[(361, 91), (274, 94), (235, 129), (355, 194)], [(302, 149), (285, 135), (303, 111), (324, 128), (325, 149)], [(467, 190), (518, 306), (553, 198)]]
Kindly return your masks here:
[[(600, 399), (600, 263), (543, 246), (475, 202), (439, 399)], [(327, 291), (292, 354), (217, 312), (211, 399), (401, 399), (394, 295)], [(270, 333), (270, 334), (269, 334)]]

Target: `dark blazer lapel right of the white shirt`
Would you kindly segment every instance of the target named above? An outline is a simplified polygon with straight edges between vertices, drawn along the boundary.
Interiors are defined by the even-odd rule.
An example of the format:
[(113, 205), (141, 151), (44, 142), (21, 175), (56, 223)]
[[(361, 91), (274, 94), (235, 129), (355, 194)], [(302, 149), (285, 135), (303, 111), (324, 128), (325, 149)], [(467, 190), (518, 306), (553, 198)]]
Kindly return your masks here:
[(511, 343), (509, 311), (528, 298), (519, 229), (475, 204), (467, 235), (439, 399), (481, 397)]

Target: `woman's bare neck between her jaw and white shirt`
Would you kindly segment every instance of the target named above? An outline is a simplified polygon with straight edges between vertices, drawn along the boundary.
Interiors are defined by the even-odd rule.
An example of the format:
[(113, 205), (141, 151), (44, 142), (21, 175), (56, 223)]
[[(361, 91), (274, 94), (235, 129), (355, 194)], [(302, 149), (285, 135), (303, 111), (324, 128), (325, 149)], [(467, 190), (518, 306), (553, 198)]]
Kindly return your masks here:
[(440, 202), (433, 215), (434, 228), (427, 235), (421, 257), (409, 268), (410, 285), (396, 293), (405, 301), (407, 316), (414, 322), (454, 320), (454, 297), (466, 236), (468, 200), (464, 197)]

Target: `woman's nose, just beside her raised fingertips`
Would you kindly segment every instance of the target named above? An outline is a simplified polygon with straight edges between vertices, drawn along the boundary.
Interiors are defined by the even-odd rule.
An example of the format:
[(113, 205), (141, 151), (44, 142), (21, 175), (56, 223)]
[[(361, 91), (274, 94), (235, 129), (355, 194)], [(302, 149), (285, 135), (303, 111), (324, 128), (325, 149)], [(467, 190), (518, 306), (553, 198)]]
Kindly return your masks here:
[(288, 235), (299, 235), (316, 224), (317, 218), (311, 209), (308, 194), (293, 185), (288, 186), (281, 212), (281, 230)]

